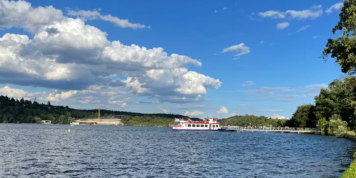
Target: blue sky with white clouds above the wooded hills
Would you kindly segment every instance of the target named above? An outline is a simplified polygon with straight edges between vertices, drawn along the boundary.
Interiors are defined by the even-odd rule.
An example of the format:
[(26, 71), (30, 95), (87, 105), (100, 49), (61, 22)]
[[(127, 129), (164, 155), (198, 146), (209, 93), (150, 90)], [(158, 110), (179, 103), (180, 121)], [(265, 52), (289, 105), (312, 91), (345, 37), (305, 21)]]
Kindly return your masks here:
[(341, 0), (0, 0), (0, 94), (76, 109), (279, 114), (345, 74)]

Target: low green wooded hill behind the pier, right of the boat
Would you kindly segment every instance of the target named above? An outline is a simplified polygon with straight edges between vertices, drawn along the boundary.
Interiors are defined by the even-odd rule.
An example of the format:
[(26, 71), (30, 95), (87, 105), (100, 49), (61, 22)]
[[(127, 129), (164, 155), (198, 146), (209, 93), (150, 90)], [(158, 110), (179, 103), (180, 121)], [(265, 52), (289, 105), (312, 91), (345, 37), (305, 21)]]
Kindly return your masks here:
[(255, 115), (236, 115), (226, 119), (219, 120), (220, 125), (230, 125), (230, 126), (266, 126), (266, 127), (284, 127), (285, 120), (271, 119), (265, 116), (255, 116)]

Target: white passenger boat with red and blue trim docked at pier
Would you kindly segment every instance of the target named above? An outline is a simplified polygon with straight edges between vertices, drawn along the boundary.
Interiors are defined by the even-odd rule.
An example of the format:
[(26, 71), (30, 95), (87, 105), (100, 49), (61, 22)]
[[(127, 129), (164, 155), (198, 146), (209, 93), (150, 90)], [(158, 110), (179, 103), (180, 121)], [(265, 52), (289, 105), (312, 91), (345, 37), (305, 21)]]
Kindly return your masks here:
[(174, 131), (221, 131), (218, 118), (201, 118), (194, 121), (190, 117), (175, 118)]

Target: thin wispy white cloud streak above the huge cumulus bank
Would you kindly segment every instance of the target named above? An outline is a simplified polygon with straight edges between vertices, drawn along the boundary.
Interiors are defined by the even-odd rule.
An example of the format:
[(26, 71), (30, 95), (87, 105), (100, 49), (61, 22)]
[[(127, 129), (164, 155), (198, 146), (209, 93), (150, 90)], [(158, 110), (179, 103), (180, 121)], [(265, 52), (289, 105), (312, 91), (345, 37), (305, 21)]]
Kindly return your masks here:
[(109, 15), (101, 15), (100, 12), (97, 10), (68, 10), (68, 15), (70, 16), (76, 16), (79, 18), (82, 18), (82, 20), (87, 21), (87, 20), (95, 20), (95, 19), (101, 19), (103, 21), (108, 21), (114, 23), (116, 26), (119, 26), (121, 28), (151, 28), (151, 26), (146, 26), (143, 24), (139, 23), (131, 23), (129, 20), (122, 20), (117, 17), (113, 17), (110, 14)]

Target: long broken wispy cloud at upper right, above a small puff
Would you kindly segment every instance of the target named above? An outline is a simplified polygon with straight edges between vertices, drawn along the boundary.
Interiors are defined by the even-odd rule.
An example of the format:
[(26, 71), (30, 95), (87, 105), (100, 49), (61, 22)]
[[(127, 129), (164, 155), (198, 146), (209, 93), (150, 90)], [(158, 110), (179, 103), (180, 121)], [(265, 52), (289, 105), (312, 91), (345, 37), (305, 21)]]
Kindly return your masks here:
[(323, 14), (323, 9), (321, 8), (321, 5), (313, 5), (312, 8), (304, 9), (300, 11), (287, 10), (285, 12), (280, 12), (275, 10), (269, 10), (266, 12), (259, 12), (258, 14), (262, 18), (271, 18), (271, 19), (290, 18), (290, 19), (304, 20), (308, 18), (316, 19), (317, 17)]

